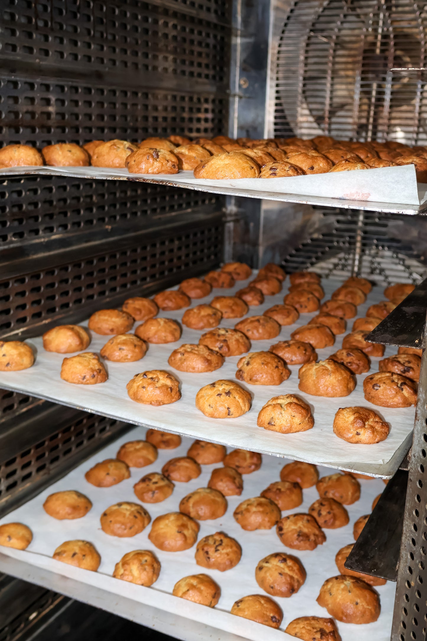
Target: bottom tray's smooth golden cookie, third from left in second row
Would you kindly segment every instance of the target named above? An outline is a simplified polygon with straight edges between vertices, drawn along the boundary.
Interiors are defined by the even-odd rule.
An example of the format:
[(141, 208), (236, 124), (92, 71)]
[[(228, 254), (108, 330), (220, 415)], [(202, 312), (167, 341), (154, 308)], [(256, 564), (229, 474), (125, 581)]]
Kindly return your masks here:
[(197, 541), (198, 522), (181, 512), (169, 512), (154, 519), (149, 533), (153, 545), (164, 552), (182, 552)]

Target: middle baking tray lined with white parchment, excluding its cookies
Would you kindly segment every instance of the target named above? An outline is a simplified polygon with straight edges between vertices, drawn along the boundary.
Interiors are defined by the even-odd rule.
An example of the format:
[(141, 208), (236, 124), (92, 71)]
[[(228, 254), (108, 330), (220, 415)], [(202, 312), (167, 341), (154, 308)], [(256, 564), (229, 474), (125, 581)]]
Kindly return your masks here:
[[(255, 272), (254, 272), (255, 274)], [(193, 300), (192, 305), (208, 303), (217, 294), (230, 295), (248, 281), (239, 281), (234, 288), (218, 290), (205, 299)], [(323, 279), (325, 299), (339, 287), (336, 279)], [(287, 293), (289, 280), (277, 296), (267, 296), (265, 302), (250, 308), (248, 315), (260, 314), (271, 305), (282, 303)], [(370, 304), (383, 298), (383, 288), (374, 287), (366, 303), (359, 306), (359, 315), (363, 316)], [(184, 310), (161, 312), (159, 315), (181, 320)], [(314, 315), (302, 314), (298, 321), (282, 328), (280, 335), (273, 340), (252, 341), (252, 351), (268, 350), (278, 340), (286, 340), (297, 327), (306, 324)], [(239, 319), (222, 320), (221, 326), (232, 328)], [(354, 319), (348, 322), (350, 331)], [(87, 323), (83, 323), (86, 326)], [(139, 324), (137, 322), (135, 327)], [(37, 355), (33, 367), (20, 372), (0, 372), (0, 387), (31, 394), (49, 401), (76, 407), (81, 410), (106, 415), (134, 424), (153, 426), (173, 433), (202, 438), (213, 442), (224, 443), (233, 447), (254, 450), (275, 456), (291, 456), (312, 463), (323, 463), (331, 467), (360, 471), (373, 476), (390, 478), (398, 469), (410, 446), (410, 432), (414, 426), (414, 408), (379, 408), (364, 399), (362, 381), (367, 374), (357, 376), (357, 387), (350, 395), (342, 398), (324, 398), (302, 394), (298, 390), (298, 369), (290, 367), (291, 376), (278, 386), (245, 385), (254, 400), (248, 413), (237, 419), (210, 419), (195, 408), (195, 396), (198, 390), (218, 379), (234, 379), (239, 356), (226, 359), (224, 365), (214, 372), (190, 374), (177, 372), (168, 365), (168, 356), (173, 349), (182, 343), (197, 343), (202, 331), (183, 328), (182, 337), (175, 343), (150, 345), (143, 360), (135, 363), (106, 363), (109, 379), (99, 385), (72, 385), (60, 379), (62, 354), (44, 351), (42, 338), (28, 340)], [(323, 360), (341, 347), (344, 335), (338, 336), (335, 345), (319, 349), (319, 360)], [(92, 343), (88, 350), (99, 353), (109, 337), (100, 337), (92, 333)], [(396, 352), (395, 347), (387, 347), (385, 355)], [(371, 359), (371, 372), (378, 369), (379, 358)], [(182, 398), (177, 403), (162, 407), (152, 407), (131, 401), (127, 395), (126, 385), (134, 374), (150, 369), (169, 370), (182, 382)], [(297, 434), (279, 434), (257, 427), (257, 415), (262, 405), (278, 394), (298, 394), (312, 407), (314, 428)], [(382, 443), (375, 445), (355, 445), (335, 437), (332, 423), (335, 412), (342, 406), (362, 405), (373, 408), (391, 424), (391, 433)]]

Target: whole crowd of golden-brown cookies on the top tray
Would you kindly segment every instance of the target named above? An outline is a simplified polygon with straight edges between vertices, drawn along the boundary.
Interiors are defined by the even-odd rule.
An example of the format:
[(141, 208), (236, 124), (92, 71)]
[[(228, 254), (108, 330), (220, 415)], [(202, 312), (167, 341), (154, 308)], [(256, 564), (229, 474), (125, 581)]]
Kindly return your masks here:
[(399, 165), (415, 166), (417, 180), (427, 180), (426, 147), (399, 143), (337, 141), (319, 136), (251, 140), (227, 136), (194, 141), (181, 136), (146, 138), (140, 144), (126, 140), (93, 140), (83, 147), (60, 143), (41, 154), (26, 145), (0, 149), (0, 167), (47, 165), (53, 167), (127, 167), (137, 174), (177, 174), (194, 171), (195, 178), (284, 178), (326, 172), (354, 171)]

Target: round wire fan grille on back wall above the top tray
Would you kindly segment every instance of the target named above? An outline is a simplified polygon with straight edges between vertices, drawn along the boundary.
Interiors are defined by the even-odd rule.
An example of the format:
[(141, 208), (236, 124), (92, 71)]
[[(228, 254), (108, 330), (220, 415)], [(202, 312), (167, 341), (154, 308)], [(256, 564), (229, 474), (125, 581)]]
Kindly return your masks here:
[(427, 5), (296, 0), (278, 42), (275, 135), (427, 144)]

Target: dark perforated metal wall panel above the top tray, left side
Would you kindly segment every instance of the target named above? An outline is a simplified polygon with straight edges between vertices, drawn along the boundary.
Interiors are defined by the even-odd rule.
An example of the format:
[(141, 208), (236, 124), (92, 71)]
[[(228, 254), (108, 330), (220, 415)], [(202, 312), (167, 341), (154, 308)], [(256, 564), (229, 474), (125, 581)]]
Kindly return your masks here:
[(3, 144), (222, 131), (227, 0), (4, 4)]

